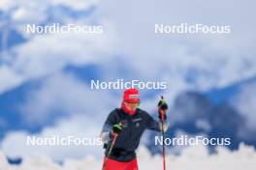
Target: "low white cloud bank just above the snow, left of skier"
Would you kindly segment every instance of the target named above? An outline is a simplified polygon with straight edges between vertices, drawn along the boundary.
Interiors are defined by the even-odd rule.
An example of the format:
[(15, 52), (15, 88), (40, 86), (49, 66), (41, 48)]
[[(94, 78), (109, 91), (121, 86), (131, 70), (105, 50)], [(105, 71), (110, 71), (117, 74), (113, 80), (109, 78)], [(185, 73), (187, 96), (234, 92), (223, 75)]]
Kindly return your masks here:
[[(99, 126), (95, 126), (99, 125)], [(69, 119), (59, 119), (52, 127), (46, 127), (39, 133), (30, 134), (25, 131), (12, 131), (7, 133), (1, 143), (1, 149), (9, 157), (49, 156), (53, 160), (61, 161), (66, 158), (81, 158), (84, 156), (101, 157), (103, 146), (95, 143), (89, 145), (56, 145), (31, 146), (27, 145), (27, 136), (31, 138), (50, 138), (52, 136), (87, 138), (91, 141), (98, 138), (102, 122), (91, 119), (89, 115), (77, 115)], [(95, 139), (96, 140), (96, 139)]]

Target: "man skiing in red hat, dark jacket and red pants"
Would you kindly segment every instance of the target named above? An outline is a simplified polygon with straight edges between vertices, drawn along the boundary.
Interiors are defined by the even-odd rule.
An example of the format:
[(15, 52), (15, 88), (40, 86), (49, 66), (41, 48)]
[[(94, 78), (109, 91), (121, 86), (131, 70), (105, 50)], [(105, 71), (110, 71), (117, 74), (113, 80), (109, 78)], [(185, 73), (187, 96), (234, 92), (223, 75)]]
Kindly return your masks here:
[(123, 93), (121, 108), (115, 108), (108, 116), (101, 138), (105, 142), (103, 170), (138, 170), (136, 149), (144, 129), (166, 130), (167, 103), (161, 99), (158, 103), (159, 119), (155, 121), (147, 112), (138, 108), (140, 94), (137, 89), (126, 89)]

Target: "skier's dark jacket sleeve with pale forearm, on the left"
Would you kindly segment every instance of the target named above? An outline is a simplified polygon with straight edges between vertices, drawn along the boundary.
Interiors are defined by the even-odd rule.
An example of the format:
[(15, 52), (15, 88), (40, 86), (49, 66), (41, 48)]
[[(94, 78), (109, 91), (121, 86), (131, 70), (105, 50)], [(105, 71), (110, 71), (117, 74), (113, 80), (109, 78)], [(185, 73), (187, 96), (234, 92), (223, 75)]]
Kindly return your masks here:
[(105, 123), (103, 125), (100, 137), (102, 138), (104, 143), (107, 143), (108, 141), (110, 141), (112, 139), (111, 138), (112, 126), (114, 124), (116, 124), (116, 119), (115, 119), (114, 115), (115, 115), (115, 111), (113, 110), (109, 114), (107, 120), (105, 121)]

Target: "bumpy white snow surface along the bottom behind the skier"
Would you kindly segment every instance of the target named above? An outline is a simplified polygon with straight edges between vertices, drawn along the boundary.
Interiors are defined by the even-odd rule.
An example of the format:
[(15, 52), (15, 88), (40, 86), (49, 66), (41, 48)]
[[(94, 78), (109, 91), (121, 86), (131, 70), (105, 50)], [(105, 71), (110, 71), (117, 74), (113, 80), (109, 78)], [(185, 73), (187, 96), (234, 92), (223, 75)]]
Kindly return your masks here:
[[(254, 170), (256, 166), (256, 151), (243, 144), (234, 152), (218, 147), (214, 155), (208, 155), (207, 147), (204, 146), (189, 147), (180, 156), (166, 158), (168, 170)], [(144, 147), (138, 151), (138, 160), (140, 170), (162, 169), (162, 157), (150, 156)], [(1, 170), (96, 170), (101, 169), (101, 164), (102, 160), (94, 156), (66, 159), (62, 165), (53, 162), (48, 156), (34, 156), (25, 157), (20, 165), (9, 165), (4, 154), (0, 152)]]

